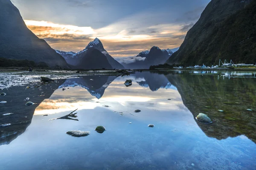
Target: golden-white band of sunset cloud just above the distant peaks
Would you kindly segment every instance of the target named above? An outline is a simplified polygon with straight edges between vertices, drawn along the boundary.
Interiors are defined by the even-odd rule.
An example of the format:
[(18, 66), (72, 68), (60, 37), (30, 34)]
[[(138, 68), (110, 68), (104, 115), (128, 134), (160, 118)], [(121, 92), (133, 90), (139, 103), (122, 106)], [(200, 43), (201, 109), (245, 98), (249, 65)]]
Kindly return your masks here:
[(130, 29), (126, 28), (129, 25), (127, 21), (122, 21), (93, 29), (46, 21), (25, 20), (25, 23), (31, 31), (46, 40), (54, 49), (78, 52), (98, 37), (112, 57), (137, 56), (141, 51), (149, 50), (154, 45), (162, 49), (176, 48), (180, 46), (186, 35), (186, 32), (180, 31), (183, 27), (180, 24), (141, 26), (137, 25), (139, 23), (134, 23), (134, 27)]

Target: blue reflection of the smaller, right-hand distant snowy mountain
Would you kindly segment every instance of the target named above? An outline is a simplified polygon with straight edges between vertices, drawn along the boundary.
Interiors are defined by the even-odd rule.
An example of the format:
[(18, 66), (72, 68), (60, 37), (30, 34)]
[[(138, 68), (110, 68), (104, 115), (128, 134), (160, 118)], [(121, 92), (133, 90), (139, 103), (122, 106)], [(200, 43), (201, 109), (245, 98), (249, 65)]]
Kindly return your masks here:
[(136, 82), (142, 87), (149, 87), (151, 91), (157, 91), (160, 88), (173, 87), (169, 80), (163, 74), (142, 72), (136, 73)]

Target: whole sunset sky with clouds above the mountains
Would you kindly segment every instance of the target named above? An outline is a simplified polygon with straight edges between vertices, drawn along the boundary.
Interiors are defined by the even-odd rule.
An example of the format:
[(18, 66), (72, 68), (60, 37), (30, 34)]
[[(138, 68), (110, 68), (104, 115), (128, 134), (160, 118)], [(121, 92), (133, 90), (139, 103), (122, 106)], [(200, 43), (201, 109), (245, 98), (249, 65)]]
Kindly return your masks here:
[(28, 28), (61, 51), (95, 37), (112, 57), (179, 47), (210, 0), (12, 0)]

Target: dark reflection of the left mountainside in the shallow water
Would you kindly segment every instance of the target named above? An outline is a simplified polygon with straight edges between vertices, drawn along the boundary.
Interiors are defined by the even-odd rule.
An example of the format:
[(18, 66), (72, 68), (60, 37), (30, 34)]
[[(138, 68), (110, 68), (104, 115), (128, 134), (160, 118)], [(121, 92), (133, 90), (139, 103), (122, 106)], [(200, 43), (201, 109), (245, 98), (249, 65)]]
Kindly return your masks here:
[[(31, 123), (36, 107), (44, 99), (48, 99), (64, 81), (42, 85), (41, 88), (26, 89), (26, 86), (14, 86), (2, 90), (6, 96), (0, 96), (0, 100), (6, 103), (0, 104), (0, 145), (9, 144), (24, 133)], [(28, 97), (29, 100), (26, 100)], [(26, 106), (25, 103), (28, 101), (37, 104)], [(4, 116), (6, 113), (12, 114)]]

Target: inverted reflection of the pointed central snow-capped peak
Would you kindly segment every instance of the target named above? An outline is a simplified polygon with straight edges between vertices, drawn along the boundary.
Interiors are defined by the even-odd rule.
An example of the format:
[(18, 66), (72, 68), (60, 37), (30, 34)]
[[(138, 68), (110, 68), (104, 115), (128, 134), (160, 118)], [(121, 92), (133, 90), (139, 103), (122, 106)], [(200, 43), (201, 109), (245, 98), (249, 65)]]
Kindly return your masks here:
[(100, 99), (103, 96), (105, 89), (108, 87), (108, 85), (111, 84), (111, 82), (114, 81), (114, 79), (116, 79), (116, 76), (85, 76), (74, 79), (67, 79), (59, 88), (80, 86), (82, 88), (87, 89), (87, 91), (92, 96), (95, 96), (97, 99)]

